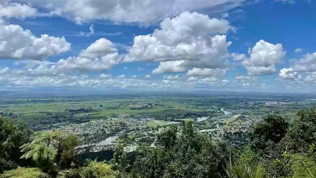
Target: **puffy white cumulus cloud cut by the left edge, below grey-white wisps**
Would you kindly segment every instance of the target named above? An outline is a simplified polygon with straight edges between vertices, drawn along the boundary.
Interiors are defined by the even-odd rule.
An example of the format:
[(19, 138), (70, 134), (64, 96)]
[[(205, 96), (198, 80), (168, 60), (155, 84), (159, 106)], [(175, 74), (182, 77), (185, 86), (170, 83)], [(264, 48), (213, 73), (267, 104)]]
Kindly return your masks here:
[(30, 30), (24, 30), (19, 25), (1, 24), (0, 31), (0, 59), (41, 60), (71, 49), (70, 43), (64, 37), (43, 34), (38, 38)]

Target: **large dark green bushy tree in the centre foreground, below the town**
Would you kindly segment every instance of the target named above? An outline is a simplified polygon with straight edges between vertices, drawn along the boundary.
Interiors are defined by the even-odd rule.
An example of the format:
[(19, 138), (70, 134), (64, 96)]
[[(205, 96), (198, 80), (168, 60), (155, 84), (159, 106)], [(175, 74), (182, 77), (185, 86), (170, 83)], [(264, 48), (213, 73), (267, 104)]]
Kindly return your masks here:
[(222, 161), (225, 159), (219, 144), (198, 133), (192, 122), (182, 122), (178, 127), (157, 134), (157, 148), (144, 149), (144, 156), (137, 157), (136, 172), (144, 178), (159, 177), (223, 177)]

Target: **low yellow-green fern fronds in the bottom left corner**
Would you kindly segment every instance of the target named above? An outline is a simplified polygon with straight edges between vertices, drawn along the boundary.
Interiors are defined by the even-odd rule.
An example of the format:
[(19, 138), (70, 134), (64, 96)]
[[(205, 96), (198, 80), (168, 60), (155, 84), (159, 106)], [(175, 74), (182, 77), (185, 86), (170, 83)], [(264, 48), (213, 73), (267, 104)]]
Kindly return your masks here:
[(17, 168), (10, 171), (4, 171), (1, 178), (49, 178), (49, 175), (43, 173), (38, 168)]

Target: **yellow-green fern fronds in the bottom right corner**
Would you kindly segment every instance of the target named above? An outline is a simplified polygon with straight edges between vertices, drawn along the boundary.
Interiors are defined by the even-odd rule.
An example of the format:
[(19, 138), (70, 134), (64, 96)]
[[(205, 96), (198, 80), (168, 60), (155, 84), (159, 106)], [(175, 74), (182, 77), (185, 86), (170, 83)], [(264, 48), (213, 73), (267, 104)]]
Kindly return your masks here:
[(316, 164), (313, 160), (297, 156), (294, 158), (292, 168), (295, 170), (293, 178), (314, 178), (316, 177)]

